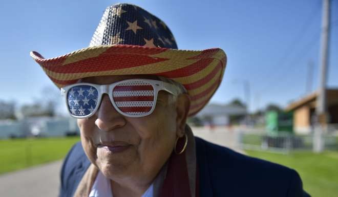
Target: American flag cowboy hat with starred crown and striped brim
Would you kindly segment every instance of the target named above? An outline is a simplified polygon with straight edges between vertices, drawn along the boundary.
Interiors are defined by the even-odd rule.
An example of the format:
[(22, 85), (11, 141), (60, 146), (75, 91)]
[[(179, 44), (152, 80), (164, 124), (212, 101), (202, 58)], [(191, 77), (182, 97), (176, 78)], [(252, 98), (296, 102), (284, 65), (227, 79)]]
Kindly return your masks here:
[(162, 20), (131, 4), (105, 10), (89, 47), (49, 59), (34, 51), (30, 55), (59, 88), (103, 75), (144, 74), (175, 80), (191, 98), (189, 116), (214, 95), (226, 66), (222, 49), (178, 50)]

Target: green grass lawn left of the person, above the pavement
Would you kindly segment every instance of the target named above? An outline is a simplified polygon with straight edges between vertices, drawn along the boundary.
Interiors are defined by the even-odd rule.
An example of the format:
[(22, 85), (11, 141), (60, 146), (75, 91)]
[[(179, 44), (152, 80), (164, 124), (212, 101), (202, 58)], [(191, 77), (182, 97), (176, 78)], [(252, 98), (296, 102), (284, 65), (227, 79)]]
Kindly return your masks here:
[(62, 159), (79, 137), (0, 140), (0, 174)]

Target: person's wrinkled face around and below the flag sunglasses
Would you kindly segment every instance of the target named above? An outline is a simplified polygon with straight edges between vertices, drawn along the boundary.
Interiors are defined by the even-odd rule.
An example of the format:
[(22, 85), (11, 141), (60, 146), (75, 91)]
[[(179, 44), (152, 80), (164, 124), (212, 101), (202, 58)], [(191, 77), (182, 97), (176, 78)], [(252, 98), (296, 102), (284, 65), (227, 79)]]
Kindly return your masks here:
[[(130, 78), (135, 76), (90, 77), (81, 82), (110, 84)], [(187, 112), (182, 114), (181, 108), (173, 95), (160, 91), (151, 115), (130, 118), (119, 114), (104, 94), (96, 114), (77, 121), (82, 146), (90, 161), (112, 180), (152, 180), (170, 157), (176, 138), (184, 134)]]

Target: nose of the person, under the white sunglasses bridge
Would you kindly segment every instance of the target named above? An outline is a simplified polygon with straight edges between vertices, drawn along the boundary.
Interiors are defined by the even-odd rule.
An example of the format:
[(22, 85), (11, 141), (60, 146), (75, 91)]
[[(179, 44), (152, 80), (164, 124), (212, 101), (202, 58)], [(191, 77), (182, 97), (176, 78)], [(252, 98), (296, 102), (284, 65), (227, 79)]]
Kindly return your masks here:
[(100, 130), (108, 132), (124, 126), (125, 123), (124, 117), (115, 110), (108, 95), (104, 94), (96, 112), (95, 125)]

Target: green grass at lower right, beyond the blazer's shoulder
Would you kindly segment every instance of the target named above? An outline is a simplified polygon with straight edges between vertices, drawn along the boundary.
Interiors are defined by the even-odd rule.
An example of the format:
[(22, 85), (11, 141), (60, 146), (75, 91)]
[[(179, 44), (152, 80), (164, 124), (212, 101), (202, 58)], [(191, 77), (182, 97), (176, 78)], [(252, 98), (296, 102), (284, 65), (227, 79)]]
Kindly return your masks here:
[(245, 151), (249, 156), (279, 163), (298, 171), (304, 189), (312, 197), (338, 196), (338, 151), (322, 154), (292, 152), (289, 155)]

